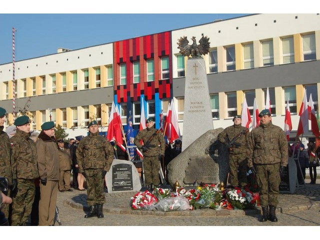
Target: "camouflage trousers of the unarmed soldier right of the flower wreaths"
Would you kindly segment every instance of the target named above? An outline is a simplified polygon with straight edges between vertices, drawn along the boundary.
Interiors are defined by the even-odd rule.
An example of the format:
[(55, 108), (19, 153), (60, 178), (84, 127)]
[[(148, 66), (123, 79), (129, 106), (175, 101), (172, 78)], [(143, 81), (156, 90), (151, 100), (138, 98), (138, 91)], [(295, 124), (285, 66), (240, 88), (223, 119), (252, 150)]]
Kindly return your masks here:
[(254, 165), (256, 183), (259, 187), (260, 204), (276, 206), (278, 204), (280, 184), (280, 163)]

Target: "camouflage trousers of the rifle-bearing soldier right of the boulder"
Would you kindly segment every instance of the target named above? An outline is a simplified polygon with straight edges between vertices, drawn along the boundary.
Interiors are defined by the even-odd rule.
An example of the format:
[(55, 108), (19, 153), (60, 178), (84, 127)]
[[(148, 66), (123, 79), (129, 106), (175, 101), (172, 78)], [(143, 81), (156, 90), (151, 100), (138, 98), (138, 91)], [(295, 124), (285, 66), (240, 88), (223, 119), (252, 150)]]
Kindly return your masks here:
[(245, 186), (247, 184), (247, 159), (245, 153), (229, 154), (230, 183), (232, 186)]

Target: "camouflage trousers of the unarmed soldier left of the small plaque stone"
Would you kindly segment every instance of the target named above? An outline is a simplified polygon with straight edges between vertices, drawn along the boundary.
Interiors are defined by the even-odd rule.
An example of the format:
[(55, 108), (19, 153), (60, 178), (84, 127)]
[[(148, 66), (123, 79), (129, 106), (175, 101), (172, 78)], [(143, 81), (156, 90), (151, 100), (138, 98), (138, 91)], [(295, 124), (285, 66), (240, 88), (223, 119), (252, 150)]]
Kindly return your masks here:
[(104, 196), (104, 179), (102, 178), (102, 168), (98, 169), (84, 169), (86, 180), (86, 192), (89, 206), (95, 204), (103, 204), (105, 202)]

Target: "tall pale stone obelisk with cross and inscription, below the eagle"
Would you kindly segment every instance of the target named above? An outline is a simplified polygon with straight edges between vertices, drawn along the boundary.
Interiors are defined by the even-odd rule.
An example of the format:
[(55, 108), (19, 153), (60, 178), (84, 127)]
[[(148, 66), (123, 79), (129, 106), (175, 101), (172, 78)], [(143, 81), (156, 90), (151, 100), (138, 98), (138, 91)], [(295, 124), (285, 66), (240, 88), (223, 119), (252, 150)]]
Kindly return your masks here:
[(203, 58), (186, 62), (182, 151), (196, 138), (213, 129), (210, 95)]

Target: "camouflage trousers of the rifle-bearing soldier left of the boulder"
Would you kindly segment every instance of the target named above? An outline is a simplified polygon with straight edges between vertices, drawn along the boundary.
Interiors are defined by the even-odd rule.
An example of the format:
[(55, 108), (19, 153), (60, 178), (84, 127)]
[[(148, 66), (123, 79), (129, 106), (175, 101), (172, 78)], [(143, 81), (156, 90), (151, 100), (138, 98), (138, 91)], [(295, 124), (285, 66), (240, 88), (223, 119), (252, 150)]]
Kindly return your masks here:
[(160, 183), (159, 170), (160, 162), (158, 156), (144, 156), (143, 157), (143, 170), (145, 177), (145, 184), (153, 183), (158, 185)]

